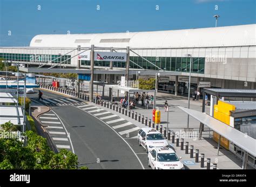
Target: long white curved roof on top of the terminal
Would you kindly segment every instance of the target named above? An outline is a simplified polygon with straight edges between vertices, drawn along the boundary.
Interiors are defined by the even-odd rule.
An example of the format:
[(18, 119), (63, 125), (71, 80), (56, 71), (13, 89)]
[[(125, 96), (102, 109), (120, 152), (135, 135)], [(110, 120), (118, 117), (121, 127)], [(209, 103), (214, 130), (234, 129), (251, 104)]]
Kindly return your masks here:
[[(89, 47), (92, 44), (100, 47), (133, 48), (248, 46), (256, 44), (255, 31), (256, 24), (151, 32), (43, 34), (33, 37), (30, 46)], [(101, 39), (105, 42), (100, 42)], [(81, 41), (84, 43), (80, 43)]]

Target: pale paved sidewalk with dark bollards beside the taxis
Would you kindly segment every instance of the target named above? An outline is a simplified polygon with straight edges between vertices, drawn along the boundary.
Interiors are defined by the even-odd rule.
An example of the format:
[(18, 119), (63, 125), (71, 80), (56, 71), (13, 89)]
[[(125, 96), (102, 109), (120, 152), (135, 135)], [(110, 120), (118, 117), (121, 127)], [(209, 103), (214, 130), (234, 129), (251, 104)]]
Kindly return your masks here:
[[(158, 105), (164, 101), (157, 101)], [(177, 106), (186, 106), (187, 103), (186, 100), (172, 100), (169, 101), (169, 129), (171, 130), (171, 132), (176, 132), (178, 134), (185, 133), (184, 128), (186, 128), (186, 121), (187, 121), (187, 115), (185, 113), (183, 113), (180, 109), (177, 108)], [(199, 101), (201, 102), (201, 101)], [(132, 119), (131, 117), (128, 116), (128, 112), (127, 112), (127, 116), (124, 114), (122, 114), (122, 110), (121, 113), (119, 113), (119, 109), (118, 112), (116, 112), (116, 110), (107, 108), (101, 106), (101, 105), (96, 105), (95, 103), (92, 102), (88, 102), (90, 105), (95, 105), (99, 108), (103, 108), (109, 112), (111, 112), (112, 114), (116, 114), (122, 118), (124, 118), (127, 121), (132, 122), (133, 124), (135, 124), (136, 126), (143, 128), (146, 127), (145, 124), (142, 124), (142, 122), (138, 122), (137, 120)], [(192, 109), (196, 109), (196, 110), (201, 110), (201, 107), (198, 107), (198, 101), (192, 101), (191, 102), (191, 107)], [(209, 107), (206, 106), (206, 110), (209, 110)], [(152, 109), (133, 109), (131, 110), (131, 114), (132, 111), (134, 111), (134, 115), (135, 112), (137, 112), (137, 114), (141, 114), (144, 115), (144, 117), (147, 117), (148, 119), (152, 119)], [(162, 124), (163, 125), (163, 131), (164, 131), (164, 127), (167, 127), (167, 112), (164, 112), (163, 108), (160, 108), (161, 111), (161, 120), (162, 120)], [(145, 118), (144, 118), (145, 120)], [(163, 121), (164, 120), (164, 121)], [(145, 121), (144, 121), (145, 122)], [(151, 127), (152, 127), (152, 123), (151, 123)], [(199, 127), (199, 122), (197, 120), (194, 120), (192, 117), (190, 117), (190, 127), (195, 128), (192, 135), (192, 137), (184, 137), (184, 150), (180, 150), (180, 140), (179, 140), (179, 147), (176, 146), (176, 139), (174, 141), (174, 144), (171, 143), (171, 141), (169, 141), (170, 144), (173, 145), (173, 147), (176, 149), (177, 151), (177, 155), (182, 157), (182, 160), (184, 163), (186, 163), (186, 167), (189, 169), (206, 169), (206, 161), (207, 158), (211, 158), (211, 169), (213, 167), (213, 163), (217, 163), (217, 168), (218, 169), (241, 169), (241, 165), (242, 162), (239, 158), (236, 158), (235, 155), (233, 153), (231, 153), (228, 150), (225, 150), (224, 148), (220, 148), (219, 150), (219, 156), (217, 156), (217, 142), (212, 140), (212, 137), (207, 134), (203, 134), (203, 138), (202, 140), (198, 140), (197, 136), (198, 136), (198, 132), (196, 128)], [(160, 128), (160, 126), (159, 126)], [(180, 137), (179, 137), (180, 138)], [(181, 137), (183, 138), (183, 137)], [(188, 146), (188, 154), (185, 154), (185, 142), (188, 142), (189, 146)], [(190, 146), (193, 145), (194, 146), (194, 153), (193, 153), (193, 158), (190, 158)], [(199, 163), (195, 162), (195, 151), (196, 149), (199, 149)], [(200, 155), (201, 154), (205, 154), (205, 159), (204, 159), (204, 168), (200, 168)], [(247, 169), (252, 169), (249, 165), (247, 165)]]

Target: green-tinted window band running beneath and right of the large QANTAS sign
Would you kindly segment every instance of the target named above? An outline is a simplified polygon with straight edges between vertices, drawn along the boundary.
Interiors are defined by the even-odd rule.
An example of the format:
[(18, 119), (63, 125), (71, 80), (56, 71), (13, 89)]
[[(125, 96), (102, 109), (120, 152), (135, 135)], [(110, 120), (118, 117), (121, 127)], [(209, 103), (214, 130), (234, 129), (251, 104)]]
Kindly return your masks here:
[[(184, 57), (143, 57), (150, 61), (152, 64), (160, 67), (165, 71), (176, 71), (176, 72), (190, 72), (190, 58)], [(141, 69), (139, 66), (146, 70), (158, 70), (158, 68), (142, 57), (130, 57), (130, 68)], [(125, 62), (113, 62), (113, 67), (125, 68)], [(81, 60), (81, 65), (90, 66), (90, 60)], [(139, 66), (138, 66), (139, 65)], [(109, 67), (110, 61), (95, 61), (95, 66)], [(192, 58), (192, 73), (204, 73), (205, 58)]]

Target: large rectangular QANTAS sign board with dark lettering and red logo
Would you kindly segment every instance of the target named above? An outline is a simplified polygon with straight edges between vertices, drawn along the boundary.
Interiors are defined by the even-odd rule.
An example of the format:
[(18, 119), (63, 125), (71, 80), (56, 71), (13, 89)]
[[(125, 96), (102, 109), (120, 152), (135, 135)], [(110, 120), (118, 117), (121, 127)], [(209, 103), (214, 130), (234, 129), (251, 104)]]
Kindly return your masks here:
[(126, 53), (97, 51), (94, 58), (97, 61), (126, 61)]

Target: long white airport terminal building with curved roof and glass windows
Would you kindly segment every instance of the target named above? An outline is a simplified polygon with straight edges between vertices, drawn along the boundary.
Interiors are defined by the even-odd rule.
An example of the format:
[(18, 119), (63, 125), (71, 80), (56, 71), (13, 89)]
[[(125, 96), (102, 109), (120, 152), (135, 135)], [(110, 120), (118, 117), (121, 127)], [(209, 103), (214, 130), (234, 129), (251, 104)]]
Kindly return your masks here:
[[(178, 92), (187, 93), (185, 82), (190, 72), (190, 57), (186, 54), (192, 56), (193, 89), (200, 89), (202, 85), (255, 89), (255, 31), (256, 24), (152, 32), (45, 34), (33, 37), (29, 47), (0, 47), (0, 58), (8, 63), (18, 61), (26, 67), (38, 67), (53, 60), (49, 63), (51, 66), (66, 60), (60, 67), (76, 68), (78, 58), (72, 57), (78, 53), (74, 50), (78, 45), (83, 50), (93, 44), (99, 51), (111, 51), (113, 47), (116, 52), (126, 52), (129, 46), (133, 51), (130, 52), (130, 70), (167, 72), (166, 79), (159, 85), (163, 92), (171, 92), (178, 82)], [(54, 60), (57, 57), (61, 58)], [(80, 63), (82, 68), (90, 68), (90, 60)], [(95, 68), (106, 69), (110, 64), (110, 61), (97, 60)], [(125, 70), (125, 64), (113, 61), (111, 68)], [(106, 76), (105, 81), (112, 84), (121, 76)], [(130, 75), (130, 79), (136, 79), (136, 75)], [(103, 74), (95, 74), (95, 80), (103, 80)]]

